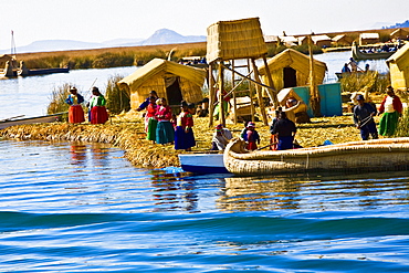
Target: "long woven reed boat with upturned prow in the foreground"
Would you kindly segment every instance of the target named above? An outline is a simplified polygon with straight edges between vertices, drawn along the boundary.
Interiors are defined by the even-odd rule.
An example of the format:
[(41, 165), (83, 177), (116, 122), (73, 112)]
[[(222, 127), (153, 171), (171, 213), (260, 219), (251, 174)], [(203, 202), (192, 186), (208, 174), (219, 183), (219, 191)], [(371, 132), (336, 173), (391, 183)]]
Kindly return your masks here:
[(279, 151), (243, 150), (243, 141), (230, 141), (226, 168), (238, 175), (302, 171), (381, 171), (409, 168), (409, 138), (384, 138)]

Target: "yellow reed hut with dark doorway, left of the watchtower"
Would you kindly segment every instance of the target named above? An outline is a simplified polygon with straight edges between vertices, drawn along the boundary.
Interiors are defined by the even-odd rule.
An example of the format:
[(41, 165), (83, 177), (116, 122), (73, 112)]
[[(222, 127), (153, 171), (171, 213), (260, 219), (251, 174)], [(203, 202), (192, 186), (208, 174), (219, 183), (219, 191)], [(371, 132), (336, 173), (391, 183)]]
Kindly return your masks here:
[(156, 91), (171, 106), (179, 106), (181, 101), (198, 103), (203, 98), (202, 90), (206, 70), (178, 64), (162, 59), (154, 59), (133, 74), (118, 82), (119, 88), (130, 96), (130, 108), (136, 109)]

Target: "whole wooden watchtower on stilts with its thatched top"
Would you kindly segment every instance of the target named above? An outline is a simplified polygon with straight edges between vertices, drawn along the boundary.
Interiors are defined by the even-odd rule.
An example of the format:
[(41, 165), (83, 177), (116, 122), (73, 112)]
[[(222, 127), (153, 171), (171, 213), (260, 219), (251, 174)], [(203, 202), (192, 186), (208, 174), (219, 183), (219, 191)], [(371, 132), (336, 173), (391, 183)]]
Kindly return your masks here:
[[(208, 28), (207, 61), (209, 63), (209, 126), (213, 125), (213, 111), (217, 104), (219, 104), (219, 123), (223, 125), (226, 124), (226, 113), (220, 104), (226, 96), (231, 95), (233, 97), (234, 113), (237, 113), (234, 90), (238, 85), (235, 85), (235, 75), (240, 76), (242, 80), (249, 81), (252, 85), (255, 85), (258, 104), (260, 105), (263, 123), (268, 125), (261, 88), (264, 87), (268, 91), (269, 97), (275, 106), (277, 106), (276, 91), (274, 90), (270, 71), (266, 71), (268, 85), (265, 85), (261, 82), (260, 73), (255, 65), (255, 60), (262, 57), (265, 67), (269, 67), (266, 65), (266, 53), (268, 49), (259, 18), (219, 21)], [(247, 60), (247, 65), (242, 66), (248, 67), (248, 75), (244, 75), (237, 70), (242, 66), (234, 66), (234, 60)], [(227, 94), (223, 94), (222, 92), (224, 91), (224, 70), (229, 70), (232, 73), (232, 88)], [(216, 97), (217, 90), (220, 91), (218, 92), (218, 97)], [(250, 98), (252, 118), (254, 120), (253, 96), (251, 90), (252, 88), (250, 88)], [(235, 115), (234, 123), (237, 123)]]

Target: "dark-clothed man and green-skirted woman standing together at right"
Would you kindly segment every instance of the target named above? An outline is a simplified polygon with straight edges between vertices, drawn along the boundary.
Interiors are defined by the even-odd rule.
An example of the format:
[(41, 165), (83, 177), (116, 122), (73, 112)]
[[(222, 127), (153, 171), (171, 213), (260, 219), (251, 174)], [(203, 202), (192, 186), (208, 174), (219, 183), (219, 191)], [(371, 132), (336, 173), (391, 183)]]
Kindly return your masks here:
[[(358, 95), (356, 99), (358, 105), (354, 107), (354, 123), (360, 130), (363, 140), (367, 140), (369, 135), (373, 139), (377, 139), (379, 135), (389, 137), (395, 134), (403, 106), (391, 86), (386, 88), (386, 96), (378, 112), (376, 107), (365, 102), (363, 95)], [(375, 115), (382, 115), (379, 120), (379, 129), (374, 120)]]

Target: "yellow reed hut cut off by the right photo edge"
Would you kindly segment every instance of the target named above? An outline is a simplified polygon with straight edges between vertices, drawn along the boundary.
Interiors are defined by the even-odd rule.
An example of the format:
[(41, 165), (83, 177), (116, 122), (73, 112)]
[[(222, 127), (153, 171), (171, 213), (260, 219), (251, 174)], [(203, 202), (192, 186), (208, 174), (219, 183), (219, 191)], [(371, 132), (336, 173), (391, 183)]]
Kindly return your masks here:
[(409, 88), (409, 43), (403, 45), (386, 63), (389, 66), (390, 82), (395, 90)]

